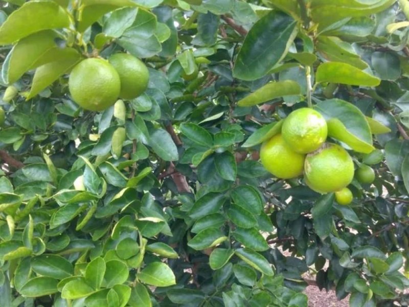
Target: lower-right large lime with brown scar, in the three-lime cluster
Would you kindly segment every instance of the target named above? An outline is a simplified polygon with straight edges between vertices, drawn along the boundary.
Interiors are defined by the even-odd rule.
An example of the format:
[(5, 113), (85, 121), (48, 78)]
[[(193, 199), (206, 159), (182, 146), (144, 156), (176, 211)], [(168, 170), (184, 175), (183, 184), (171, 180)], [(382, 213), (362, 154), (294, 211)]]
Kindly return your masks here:
[(354, 162), (339, 145), (325, 144), (305, 158), (304, 175), (307, 185), (316, 192), (339, 191), (354, 178)]

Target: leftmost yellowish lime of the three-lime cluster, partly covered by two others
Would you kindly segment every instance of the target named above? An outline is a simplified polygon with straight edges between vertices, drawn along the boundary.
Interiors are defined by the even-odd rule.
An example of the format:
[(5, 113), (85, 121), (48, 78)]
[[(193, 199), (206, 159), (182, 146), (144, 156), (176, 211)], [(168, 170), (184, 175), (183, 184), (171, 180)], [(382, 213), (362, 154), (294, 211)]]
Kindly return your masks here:
[(305, 156), (292, 151), (281, 135), (263, 143), (260, 159), (265, 169), (277, 178), (290, 179), (303, 173)]

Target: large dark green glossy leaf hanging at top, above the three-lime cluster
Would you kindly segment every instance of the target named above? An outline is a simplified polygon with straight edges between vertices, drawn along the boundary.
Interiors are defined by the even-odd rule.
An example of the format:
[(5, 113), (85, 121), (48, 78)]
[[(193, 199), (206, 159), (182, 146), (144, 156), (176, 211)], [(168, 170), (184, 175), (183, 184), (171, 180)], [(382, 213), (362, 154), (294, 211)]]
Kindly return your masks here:
[(271, 11), (250, 29), (237, 55), (233, 76), (242, 80), (263, 77), (287, 54), (297, 35), (290, 16)]

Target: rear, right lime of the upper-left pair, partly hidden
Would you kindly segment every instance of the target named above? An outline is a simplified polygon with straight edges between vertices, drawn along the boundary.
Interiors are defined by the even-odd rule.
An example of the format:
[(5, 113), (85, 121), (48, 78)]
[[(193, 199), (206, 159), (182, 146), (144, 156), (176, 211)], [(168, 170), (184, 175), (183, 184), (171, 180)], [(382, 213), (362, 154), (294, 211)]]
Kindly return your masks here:
[(121, 79), (119, 97), (133, 99), (145, 92), (149, 82), (149, 71), (144, 62), (127, 53), (114, 54), (108, 60)]

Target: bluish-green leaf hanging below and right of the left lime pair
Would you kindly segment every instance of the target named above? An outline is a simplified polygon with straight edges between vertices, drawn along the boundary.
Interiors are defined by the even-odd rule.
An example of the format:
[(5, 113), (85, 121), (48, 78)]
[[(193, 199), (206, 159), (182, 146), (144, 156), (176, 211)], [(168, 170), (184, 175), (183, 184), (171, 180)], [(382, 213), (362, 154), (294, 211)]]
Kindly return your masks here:
[(171, 136), (163, 129), (155, 129), (150, 135), (148, 145), (165, 161), (176, 161), (179, 156)]

